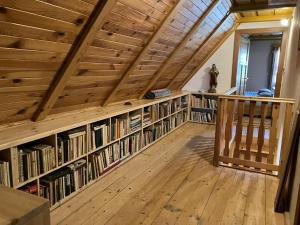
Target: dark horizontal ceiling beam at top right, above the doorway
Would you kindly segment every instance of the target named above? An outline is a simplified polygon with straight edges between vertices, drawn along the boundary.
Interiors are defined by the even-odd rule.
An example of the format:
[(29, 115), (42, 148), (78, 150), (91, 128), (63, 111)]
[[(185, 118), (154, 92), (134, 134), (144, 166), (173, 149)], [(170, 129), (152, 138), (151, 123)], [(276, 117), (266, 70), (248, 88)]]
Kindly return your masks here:
[(255, 11), (255, 10), (264, 10), (264, 9), (278, 9), (286, 7), (296, 7), (296, 3), (285, 3), (285, 4), (268, 4), (268, 3), (250, 3), (243, 5), (235, 5), (231, 7), (232, 13), (245, 12), (245, 11)]

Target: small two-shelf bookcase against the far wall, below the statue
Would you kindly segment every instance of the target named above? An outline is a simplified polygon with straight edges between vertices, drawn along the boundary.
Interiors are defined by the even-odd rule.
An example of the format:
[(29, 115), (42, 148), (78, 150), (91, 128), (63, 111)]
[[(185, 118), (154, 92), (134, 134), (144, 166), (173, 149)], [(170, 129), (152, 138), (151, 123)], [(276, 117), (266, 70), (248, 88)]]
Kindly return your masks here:
[(201, 124), (216, 124), (218, 94), (191, 93), (190, 121)]

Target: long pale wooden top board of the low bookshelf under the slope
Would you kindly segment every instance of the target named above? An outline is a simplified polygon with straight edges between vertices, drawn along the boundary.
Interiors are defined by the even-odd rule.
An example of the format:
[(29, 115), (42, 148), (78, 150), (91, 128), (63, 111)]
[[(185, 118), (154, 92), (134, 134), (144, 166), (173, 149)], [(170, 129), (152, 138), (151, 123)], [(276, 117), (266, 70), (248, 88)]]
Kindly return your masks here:
[(77, 110), (72, 113), (54, 114), (38, 122), (26, 120), (20, 124), (2, 126), (0, 127), (0, 150), (188, 94), (188, 92), (174, 92), (165, 98), (131, 101), (131, 105), (125, 105), (123, 102), (106, 107)]

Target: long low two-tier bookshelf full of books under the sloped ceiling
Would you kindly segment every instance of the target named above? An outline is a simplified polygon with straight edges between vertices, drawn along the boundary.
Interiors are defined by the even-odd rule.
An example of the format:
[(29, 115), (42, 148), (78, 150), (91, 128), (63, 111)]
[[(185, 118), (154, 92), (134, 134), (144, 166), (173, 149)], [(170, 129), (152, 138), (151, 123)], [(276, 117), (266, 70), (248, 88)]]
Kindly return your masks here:
[(3, 143), (0, 182), (49, 199), (53, 210), (186, 123), (188, 102), (188, 93), (144, 100), (77, 126)]

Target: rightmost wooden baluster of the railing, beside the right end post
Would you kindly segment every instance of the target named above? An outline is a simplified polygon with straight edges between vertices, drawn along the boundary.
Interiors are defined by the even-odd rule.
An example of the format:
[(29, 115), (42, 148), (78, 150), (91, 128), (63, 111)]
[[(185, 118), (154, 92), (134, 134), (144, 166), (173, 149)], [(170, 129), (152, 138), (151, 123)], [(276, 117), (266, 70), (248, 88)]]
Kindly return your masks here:
[(278, 117), (279, 117), (279, 109), (280, 103), (273, 103), (272, 106), (272, 124), (270, 129), (270, 137), (269, 137), (269, 155), (268, 155), (268, 163), (274, 164), (274, 153), (277, 148), (277, 125), (278, 125)]

